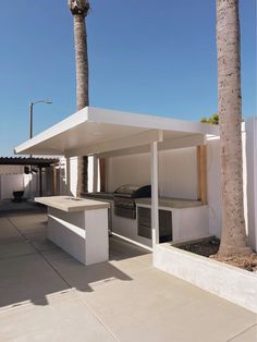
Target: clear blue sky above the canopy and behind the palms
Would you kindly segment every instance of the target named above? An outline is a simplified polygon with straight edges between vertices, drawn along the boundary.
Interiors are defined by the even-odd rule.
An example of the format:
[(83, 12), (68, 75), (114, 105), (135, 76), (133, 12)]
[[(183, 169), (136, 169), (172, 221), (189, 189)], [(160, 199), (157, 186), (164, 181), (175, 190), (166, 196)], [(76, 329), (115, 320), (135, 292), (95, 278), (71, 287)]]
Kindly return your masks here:
[[(215, 0), (91, 0), (90, 106), (198, 121), (217, 112)], [(241, 0), (245, 119), (256, 114), (256, 1)], [(0, 155), (72, 114), (73, 20), (66, 0), (1, 1)]]

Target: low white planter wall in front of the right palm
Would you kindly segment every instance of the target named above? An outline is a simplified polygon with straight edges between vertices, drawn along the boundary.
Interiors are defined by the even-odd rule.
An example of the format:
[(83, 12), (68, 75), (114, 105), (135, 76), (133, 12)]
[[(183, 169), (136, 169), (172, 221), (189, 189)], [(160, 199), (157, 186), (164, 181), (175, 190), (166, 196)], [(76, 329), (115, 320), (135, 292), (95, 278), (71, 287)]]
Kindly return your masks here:
[(171, 247), (170, 244), (156, 246), (154, 266), (257, 313), (257, 273)]

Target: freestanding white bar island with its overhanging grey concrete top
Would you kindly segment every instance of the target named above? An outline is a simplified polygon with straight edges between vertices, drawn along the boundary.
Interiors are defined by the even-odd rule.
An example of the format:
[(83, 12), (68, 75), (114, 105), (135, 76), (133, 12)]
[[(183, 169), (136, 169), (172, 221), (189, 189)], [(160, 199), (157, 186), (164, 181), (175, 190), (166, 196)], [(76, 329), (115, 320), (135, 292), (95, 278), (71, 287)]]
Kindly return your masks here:
[(109, 203), (70, 196), (36, 197), (48, 206), (48, 239), (84, 265), (109, 259)]

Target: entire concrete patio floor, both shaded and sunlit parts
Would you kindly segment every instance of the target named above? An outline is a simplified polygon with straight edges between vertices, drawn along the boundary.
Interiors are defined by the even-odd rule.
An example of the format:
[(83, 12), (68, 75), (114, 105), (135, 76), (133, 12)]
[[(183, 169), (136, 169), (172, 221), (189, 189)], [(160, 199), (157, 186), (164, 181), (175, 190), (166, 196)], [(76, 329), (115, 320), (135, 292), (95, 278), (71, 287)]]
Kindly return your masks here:
[(46, 240), (46, 215), (0, 217), (0, 341), (257, 341), (257, 315), (151, 266), (115, 237), (85, 267)]

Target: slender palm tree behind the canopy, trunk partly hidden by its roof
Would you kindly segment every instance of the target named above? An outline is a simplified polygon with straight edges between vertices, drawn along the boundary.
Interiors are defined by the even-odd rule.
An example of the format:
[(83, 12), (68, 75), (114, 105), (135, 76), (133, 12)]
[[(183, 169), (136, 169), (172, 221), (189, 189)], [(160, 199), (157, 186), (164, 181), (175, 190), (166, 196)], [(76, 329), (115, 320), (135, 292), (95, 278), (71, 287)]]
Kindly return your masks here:
[[(89, 106), (88, 96), (88, 57), (85, 17), (89, 11), (87, 0), (69, 0), (69, 7), (74, 17), (74, 39), (76, 57), (76, 107), (77, 110)], [(87, 157), (77, 159), (76, 195), (87, 191)]]

